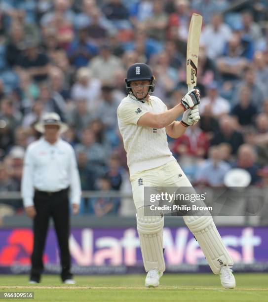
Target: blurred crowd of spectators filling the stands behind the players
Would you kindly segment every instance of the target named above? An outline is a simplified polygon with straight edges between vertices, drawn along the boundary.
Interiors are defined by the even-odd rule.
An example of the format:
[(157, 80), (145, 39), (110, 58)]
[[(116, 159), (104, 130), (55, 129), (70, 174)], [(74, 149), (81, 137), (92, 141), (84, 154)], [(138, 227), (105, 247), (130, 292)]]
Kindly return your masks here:
[[(187, 92), (191, 14), (203, 15), (201, 120), (170, 149), (192, 184), (224, 186), (240, 167), (268, 185), (267, 0), (1, 0), (0, 192), (19, 191), (24, 153), (45, 112), (70, 126), (83, 190), (131, 193), (116, 109), (124, 77), (150, 65), (171, 108)], [(141, 150), (142, 152), (142, 150)], [(0, 200), (22, 213), (21, 200)], [(81, 214), (127, 215), (129, 200), (83, 198)]]

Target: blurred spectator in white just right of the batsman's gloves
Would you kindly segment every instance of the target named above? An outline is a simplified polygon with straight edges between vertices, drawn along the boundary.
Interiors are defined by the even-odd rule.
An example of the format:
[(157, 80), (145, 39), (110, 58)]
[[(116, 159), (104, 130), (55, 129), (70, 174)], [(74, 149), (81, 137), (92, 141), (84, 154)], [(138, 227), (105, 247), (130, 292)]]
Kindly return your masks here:
[(219, 95), (218, 83), (215, 81), (207, 86), (207, 96), (202, 99), (199, 105), (200, 114), (204, 113), (206, 106), (211, 107), (211, 113), (217, 118), (230, 112), (230, 104), (228, 100)]

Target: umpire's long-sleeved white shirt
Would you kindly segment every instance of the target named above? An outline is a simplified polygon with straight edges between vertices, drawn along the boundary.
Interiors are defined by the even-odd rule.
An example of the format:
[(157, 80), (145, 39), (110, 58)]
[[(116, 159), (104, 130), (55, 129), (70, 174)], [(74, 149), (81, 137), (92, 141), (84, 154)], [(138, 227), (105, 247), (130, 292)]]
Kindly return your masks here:
[(57, 192), (71, 189), (72, 203), (80, 203), (81, 184), (73, 147), (62, 139), (51, 145), (43, 137), (31, 143), (25, 154), (22, 198), (25, 207), (34, 205), (35, 189)]

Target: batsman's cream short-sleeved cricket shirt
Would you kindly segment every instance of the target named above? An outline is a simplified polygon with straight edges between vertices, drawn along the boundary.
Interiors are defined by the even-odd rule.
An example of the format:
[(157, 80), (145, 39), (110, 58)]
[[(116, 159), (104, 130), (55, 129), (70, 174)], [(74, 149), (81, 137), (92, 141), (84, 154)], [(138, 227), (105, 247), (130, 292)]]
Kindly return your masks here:
[(156, 129), (137, 125), (139, 118), (145, 113), (165, 111), (167, 111), (166, 105), (155, 96), (150, 96), (149, 102), (145, 103), (127, 96), (119, 104), (118, 127), (123, 137), (130, 175), (175, 160), (168, 148), (165, 128)]

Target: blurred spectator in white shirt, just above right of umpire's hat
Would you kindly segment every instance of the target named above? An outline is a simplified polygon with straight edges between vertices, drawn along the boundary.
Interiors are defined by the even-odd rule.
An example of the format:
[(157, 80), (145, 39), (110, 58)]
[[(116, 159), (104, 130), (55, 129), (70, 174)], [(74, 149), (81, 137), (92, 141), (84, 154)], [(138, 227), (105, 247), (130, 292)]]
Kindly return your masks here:
[(77, 70), (77, 80), (72, 87), (71, 95), (74, 101), (79, 99), (87, 100), (87, 108), (96, 111), (99, 108), (96, 101), (101, 92), (101, 81), (95, 77), (91, 71), (85, 67)]

